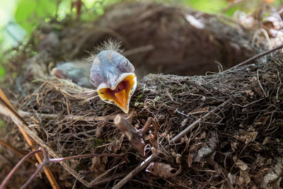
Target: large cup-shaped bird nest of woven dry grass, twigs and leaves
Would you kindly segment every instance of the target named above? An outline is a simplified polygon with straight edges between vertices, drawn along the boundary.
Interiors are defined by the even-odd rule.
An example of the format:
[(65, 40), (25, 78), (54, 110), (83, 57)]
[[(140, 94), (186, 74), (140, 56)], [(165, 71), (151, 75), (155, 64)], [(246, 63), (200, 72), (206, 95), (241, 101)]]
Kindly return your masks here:
[[(11, 60), (7, 73), (18, 77), (6, 76), (4, 89), (50, 156), (102, 154), (62, 162), (81, 183), (117, 183), (151, 158), (127, 187), (282, 187), (282, 54), (212, 75), (180, 76), (215, 71), (214, 61), (231, 67), (258, 49), (235, 23), (178, 6), (122, 4), (94, 23), (57, 25), (63, 24), (51, 21), (35, 31)], [(130, 103), (134, 130), (154, 121), (143, 131), (144, 151), (114, 125), (121, 110), (93, 89), (49, 74), (57, 62), (86, 57), (109, 36), (122, 41), (140, 75), (165, 73), (144, 76)]]

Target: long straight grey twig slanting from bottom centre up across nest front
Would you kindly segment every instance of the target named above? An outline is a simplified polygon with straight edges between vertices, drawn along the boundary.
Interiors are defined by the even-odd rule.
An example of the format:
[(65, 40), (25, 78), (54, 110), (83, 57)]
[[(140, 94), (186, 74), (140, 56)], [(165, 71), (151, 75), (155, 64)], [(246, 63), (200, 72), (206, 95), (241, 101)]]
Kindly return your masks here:
[[(209, 113), (207, 113), (206, 115), (204, 115), (202, 118), (196, 120), (195, 122), (193, 122), (191, 125), (189, 125), (188, 127), (185, 128), (185, 130), (183, 130), (182, 132), (180, 132), (179, 134), (177, 134), (173, 139), (171, 139), (171, 141), (169, 142), (169, 144), (165, 147), (165, 149), (169, 149), (171, 144), (174, 144), (178, 141), (180, 141), (180, 139), (187, 134), (187, 132), (189, 132), (190, 130), (192, 130), (192, 128), (194, 128), (195, 126), (197, 126), (201, 121), (206, 120), (207, 118), (209, 118), (210, 115), (216, 113), (216, 110), (219, 110), (219, 108), (224, 107), (225, 105), (228, 105), (230, 100), (225, 101), (224, 103), (221, 103), (221, 105), (219, 105), (218, 107), (214, 108), (213, 110), (209, 111)], [(144, 168), (146, 168), (146, 166), (151, 163), (152, 161), (154, 161), (158, 155), (160, 154), (160, 152), (156, 152), (156, 154), (151, 154), (151, 156), (149, 156), (147, 159), (145, 159), (144, 161), (141, 162), (141, 164), (139, 164), (139, 166), (137, 166), (136, 168), (134, 168), (133, 171), (129, 172), (129, 174), (127, 176), (125, 176), (125, 178), (123, 178), (119, 183), (117, 183), (113, 189), (117, 189), (117, 188), (121, 188), (123, 185), (125, 185), (125, 183), (127, 183), (127, 181), (129, 181), (133, 176), (135, 176), (137, 173), (139, 173), (139, 171), (143, 170)]]

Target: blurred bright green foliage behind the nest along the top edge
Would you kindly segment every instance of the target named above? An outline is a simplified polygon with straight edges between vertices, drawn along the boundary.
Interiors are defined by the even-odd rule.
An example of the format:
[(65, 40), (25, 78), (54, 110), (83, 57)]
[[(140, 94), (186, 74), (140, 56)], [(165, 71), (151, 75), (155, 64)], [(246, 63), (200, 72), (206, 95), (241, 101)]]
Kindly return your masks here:
[[(76, 18), (76, 8), (71, 4), (79, 0), (0, 0), (0, 79), (4, 76), (8, 53), (12, 47), (24, 43), (33, 29), (42, 22), (67, 16)], [(123, 0), (81, 0), (81, 21), (91, 21), (102, 15), (104, 8)], [(131, 0), (124, 0), (131, 1)], [(166, 0), (165, 3), (183, 4), (207, 13), (222, 13), (233, 16), (237, 10), (253, 13), (258, 4), (269, 3), (279, 9), (283, 0)]]

